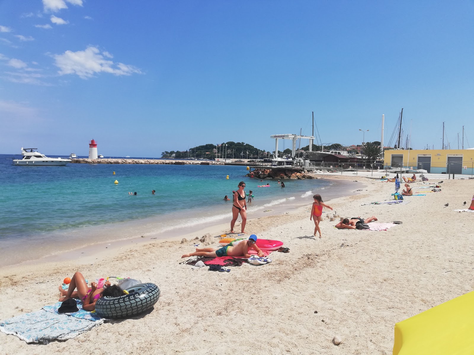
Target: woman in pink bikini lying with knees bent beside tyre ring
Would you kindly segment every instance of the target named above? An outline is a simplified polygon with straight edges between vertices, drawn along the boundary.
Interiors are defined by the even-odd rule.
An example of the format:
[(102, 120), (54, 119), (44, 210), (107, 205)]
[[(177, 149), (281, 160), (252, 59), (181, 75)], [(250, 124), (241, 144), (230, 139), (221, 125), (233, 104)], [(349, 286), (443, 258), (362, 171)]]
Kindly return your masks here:
[[(76, 290), (77, 291), (74, 291)], [(59, 298), (60, 302), (69, 300), (70, 298), (79, 298), (82, 300), (82, 309), (85, 311), (94, 311), (95, 302), (104, 296), (118, 297), (123, 294), (123, 290), (117, 285), (110, 285), (107, 281), (104, 284), (104, 287), (97, 288), (95, 282), (91, 283), (91, 288), (87, 287), (86, 280), (80, 272), (76, 272), (73, 277), (71, 277), (71, 282), (69, 283), (69, 288), (63, 290), (59, 286), (59, 292), (61, 292), (61, 297)]]

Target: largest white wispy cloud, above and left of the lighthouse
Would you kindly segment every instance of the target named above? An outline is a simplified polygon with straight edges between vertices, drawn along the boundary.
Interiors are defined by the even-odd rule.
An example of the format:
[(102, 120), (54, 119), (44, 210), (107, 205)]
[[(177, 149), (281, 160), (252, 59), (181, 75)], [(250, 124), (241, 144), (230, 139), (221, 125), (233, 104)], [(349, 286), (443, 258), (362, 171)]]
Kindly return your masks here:
[(132, 65), (105, 60), (99, 49), (93, 46), (87, 47), (84, 51), (55, 54), (53, 58), (55, 65), (60, 69), (58, 71), (60, 75), (77, 74), (82, 79), (91, 78), (100, 72), (114, 75), (141, 74), (141, 71)]

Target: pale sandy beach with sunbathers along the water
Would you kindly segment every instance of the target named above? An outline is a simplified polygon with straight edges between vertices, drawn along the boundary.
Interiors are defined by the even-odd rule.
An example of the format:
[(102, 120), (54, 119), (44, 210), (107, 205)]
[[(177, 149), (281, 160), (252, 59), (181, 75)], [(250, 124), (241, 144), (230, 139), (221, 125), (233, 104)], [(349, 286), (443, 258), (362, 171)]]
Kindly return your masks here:
[[(81, 258), (4, 267), (2, 320), (55, 303), (58, 285), (75, 271), (89, 280), (122, 275), (152, 282), (161, 297), (145, 314), (111, 320), (63, 342), (27, 345), (0, 333), (0, 353), (391, 354), (396, 322), (473, 290), (474, 213), (453, 209), (470, 204), (474, 180), (445, 179), (441, 192), (406, 197), (409, 204), (373, 205), (391, 199), (394, 184), (330, 178), (365, 185), (358, 195), (324, 201), (339, 215), (375, 215), (378, 222), (403, 224), (387, 231), (341, 231), (334, 228), (338, 221), (324, 218), (323, 237), (315, 239), (309, 197), (307, 207), (247, 222), (247, 233), (290, 248), (270, 254), (273, 262), (264, 266), (244, 264), (218, 273), (179, 264), (195, 244), (182, 238), (208, 235), (198, 242), (217, 247), (219, 235), (228, 231), (225, 224), (88, 251)], [(421, 191), (417, 186), (423, 185), (411, 187)], [(333, 214), (325, 209), (323, 217), (328, 213)], [(332, 343), (336, 335), (342, 338), (339, 346)]]

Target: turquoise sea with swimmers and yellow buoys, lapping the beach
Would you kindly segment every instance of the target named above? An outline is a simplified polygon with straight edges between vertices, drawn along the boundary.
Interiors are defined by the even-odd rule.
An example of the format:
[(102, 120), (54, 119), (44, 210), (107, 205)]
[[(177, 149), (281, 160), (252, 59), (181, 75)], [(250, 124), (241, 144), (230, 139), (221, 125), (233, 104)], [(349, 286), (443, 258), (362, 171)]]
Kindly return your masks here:
[(285, 179), (284, 188), (265, 179), (270, 187), (257, 187), (263, 183), (245, 177), (245, 166), (12, 165), (12, 159), (20, 158), (0, 154), (0, 266), (94, 243), (141, 236), (164, 239), (230, 223), (232, 201), (224, 196), (232, 199), (240, 181), (254, 195), (249, 219), (310, 204), (317, 193), (327, 201), (355, 189), (330, 179)]

